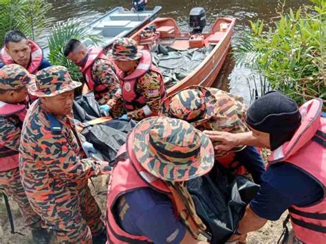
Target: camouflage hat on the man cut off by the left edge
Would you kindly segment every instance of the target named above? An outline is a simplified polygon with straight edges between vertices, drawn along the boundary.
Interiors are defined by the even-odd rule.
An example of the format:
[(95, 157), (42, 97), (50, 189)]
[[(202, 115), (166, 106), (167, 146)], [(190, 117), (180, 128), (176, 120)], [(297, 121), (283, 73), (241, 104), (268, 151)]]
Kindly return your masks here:
[(27, 86), (34, 79), (21, 65), (6, 65), (0, 69), (0, 89), (19, 89)]

